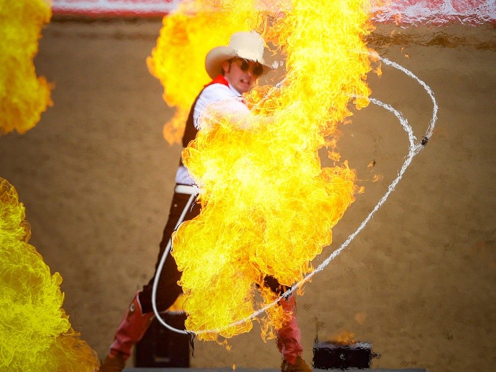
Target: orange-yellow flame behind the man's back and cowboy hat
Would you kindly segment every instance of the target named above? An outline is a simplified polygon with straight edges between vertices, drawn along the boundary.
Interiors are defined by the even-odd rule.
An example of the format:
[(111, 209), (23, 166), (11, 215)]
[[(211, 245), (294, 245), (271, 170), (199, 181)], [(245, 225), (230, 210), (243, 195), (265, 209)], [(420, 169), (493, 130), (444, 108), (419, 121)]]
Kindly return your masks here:
[(253, 28), (257, 17), (254, 0), (181, 1), (175, 12), (164, 17), (147, 64), (164, 85), (164, 100), (177, 109), (164, 125), (163, 135), (169, 144), (181, 142), (191, 104), (210, 81), (205, 55), (214, 47), (227, 45), (236, 31)]

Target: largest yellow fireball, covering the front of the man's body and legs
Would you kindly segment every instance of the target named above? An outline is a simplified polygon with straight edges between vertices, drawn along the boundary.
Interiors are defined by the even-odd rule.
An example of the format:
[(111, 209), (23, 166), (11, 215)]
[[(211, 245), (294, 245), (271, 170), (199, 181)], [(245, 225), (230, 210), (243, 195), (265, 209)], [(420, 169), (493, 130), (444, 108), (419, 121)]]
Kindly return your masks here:
[[(230, 3), (228, 11), (237, 6), (249, 10), (246, 2)], [(364, 97), (370, 94), (365, 78), (371, 67), (363, 40), (372, 26), (362, 0), (279, 1), (268, 8), (271, 13), (260, 3), (249, 6), (248, 14), (256, 15), (257, 21), (252, 27), (286, 55), (287, 73), (280, 88), (261, 86), (248, 94), (247, 115), (227, 116), (222, 104), (206, 108), (204, 129), (183, 152), (203, 190), (202, 211), (173, 237), (173, 255), (183, 271), (186, 328), (224, 328), (223, 337), (251, 329), (249, 321), (226, 326), (260, 306), (257, 291), (263, 303), (276, 299), (263, 287), (265, 276), (292, 285), (312, 270), (311, 260), (331, 243), (331, 228), (354, 201), (358, 187), (347, 162), (321, 168), (317, 150), (335, 144), (336, 125), (352, 115), (350, 97), (361, 97), (353, 102), (360, 109), (368, 105)], [(205, 54), (226, 45), (229, 33), (236, 26), (236, 31), (246, 29), (248, 22), (244, 27), (230, 23), (229, 32), (221, 28), (222, 39), (214, 37), (219, 33), (215, 26), (222, 22), (201, 23), (201, 32), (196, 32), (200, 26), (187, 22), (181, 11), (175, 17), (185, 20), (183, 26), (179, 22), (179, 35), (171, 38), (176, 45), (168, 53), (184, 53), (186, 45), (195, 67), (189, 71), (169, 66), (163, 71), (181, 79), (175, 89), (194, 86), (184, 98), (190, 105), (205, 82), (195, 75), (200, 65), (203, 68)], [(164, 20), (164, 27), (170, 30), (168, 22)], [(185, 32), (186, 26), (195, 31)], [(193, 45), (201, 48), (189, 48)], [(158, 62), (153, 70), (158, 75)], [(286, 315), (281, 307), (271, 308), (261, 319), (262, 333), (271, 337)], [(217, 337), (199, 335), (205, 340)]]

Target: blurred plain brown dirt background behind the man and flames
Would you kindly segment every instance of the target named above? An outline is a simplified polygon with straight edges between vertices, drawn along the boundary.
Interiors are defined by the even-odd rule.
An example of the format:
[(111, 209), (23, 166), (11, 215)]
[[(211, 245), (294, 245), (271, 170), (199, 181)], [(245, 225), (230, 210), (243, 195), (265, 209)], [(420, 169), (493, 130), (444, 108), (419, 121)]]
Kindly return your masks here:
[[(0, 176), (26, 206), (30, 243), (62, 274), (71, 323), (102, 358), (153, 272), (181, 151), (162, 138), (173, 110), (145, 64), (160, 25), (54, 19), (35, 60), (37, 73), (56, 85), (54, 107), (26, 134), (0, 137)], [(495, 31), (381, 26), (372, 35), (381, 56), (432, 88), (438, 122), (385, 205), (298, 299), (307, 360), (317, 332), (326, 340), (348, 331), (372, 343), (377, 368), (493, 370)], [(421, 138), (429, 96), (402, 72), (382, 70), (369, 78), (372, 96), (401, 111)], [(408, 152), (397, 119), (373, 105), (342, 132), (339, 151), (365, 193), (316, 264), (372, 210)], [(383, 179), (372, 182), (374, 175)], [(192, 367), (280, 364), (275, 343), (263, 343), (256, 326), (229, 343), (231, 350), (196, 343)]]

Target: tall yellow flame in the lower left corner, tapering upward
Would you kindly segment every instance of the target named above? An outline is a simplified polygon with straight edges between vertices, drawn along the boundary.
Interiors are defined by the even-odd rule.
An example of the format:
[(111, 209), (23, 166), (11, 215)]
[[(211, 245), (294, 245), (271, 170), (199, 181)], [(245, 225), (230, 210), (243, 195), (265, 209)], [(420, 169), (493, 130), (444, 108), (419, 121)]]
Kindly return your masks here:
[(62, 309), (62, 277), (28, 244), (15, 188), (0, 177), (0, 370), (94, 371), (96, 353)]

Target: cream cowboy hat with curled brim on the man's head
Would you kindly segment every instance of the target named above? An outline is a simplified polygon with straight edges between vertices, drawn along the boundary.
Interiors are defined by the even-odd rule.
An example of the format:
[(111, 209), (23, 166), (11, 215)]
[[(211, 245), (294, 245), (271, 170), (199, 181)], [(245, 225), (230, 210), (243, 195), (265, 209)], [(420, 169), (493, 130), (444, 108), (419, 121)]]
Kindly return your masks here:
[(227, 47), (216, 47), (205, 57), (205, 69), (213, 79), (222, 71), (222, 62), (238, 57), (248, 61), (259, 62), (263, 65), (262, 75), (270, 68), (263, 59), (264, 41), (255, 31), (240, 31), (231, 36)]

